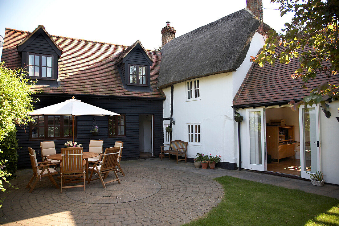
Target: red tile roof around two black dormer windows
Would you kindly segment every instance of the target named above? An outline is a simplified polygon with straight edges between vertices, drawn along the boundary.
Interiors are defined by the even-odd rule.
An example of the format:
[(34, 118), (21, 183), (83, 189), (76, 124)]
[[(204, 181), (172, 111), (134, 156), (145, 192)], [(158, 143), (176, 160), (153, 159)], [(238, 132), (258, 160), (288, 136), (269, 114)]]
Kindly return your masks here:
[[(21, 57), (16, 46), (30, 32), (6, 28), (1, 61), (8, 68), (21, 67)], [(114, 62), (128, 46), (67, 38), (51, 35), (63, 50), (59, 64), (61, 86), (48, 87), (35, 85), (31, 89), (41, 93), (110, 95), (130, 97), (163, 98), (157, 89), (160, 51), (146, 50), (154, 61), (151, 67), (151, 87), (153, 92), (127, 91)]]

